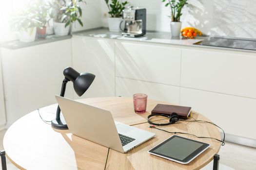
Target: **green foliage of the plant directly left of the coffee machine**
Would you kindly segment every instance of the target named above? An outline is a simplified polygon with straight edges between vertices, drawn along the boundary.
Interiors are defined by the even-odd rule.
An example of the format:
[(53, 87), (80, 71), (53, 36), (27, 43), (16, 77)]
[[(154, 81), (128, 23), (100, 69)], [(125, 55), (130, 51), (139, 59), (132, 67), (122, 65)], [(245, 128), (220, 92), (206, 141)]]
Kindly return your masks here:
[(119, 0), (111, 0), (112, 2), (109, 4), (109, 0), (105, 0), (109, 14), (111, 17), (120, 17), (122, 16), (122, 11), (124, 10), (124, 6), (128, 4), (128, 1), (120, 2)]

